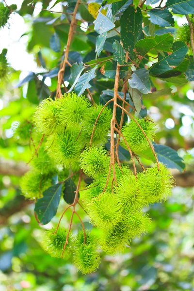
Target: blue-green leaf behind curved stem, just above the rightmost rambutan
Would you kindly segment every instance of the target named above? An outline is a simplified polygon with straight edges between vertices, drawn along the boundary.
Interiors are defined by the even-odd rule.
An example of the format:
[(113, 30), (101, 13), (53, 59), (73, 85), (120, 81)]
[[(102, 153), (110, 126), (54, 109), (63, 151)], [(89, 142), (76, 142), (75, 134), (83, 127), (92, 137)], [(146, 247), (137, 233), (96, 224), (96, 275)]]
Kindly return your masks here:
[[(153, 144), (155, 152), (157, 154), (159, 162), (164, 163), (168, 168), (178, 169), (183, 171), (185, 169), (185, 163), (181, 157), (178, 156), (176, 150), (172, 149), (169, 146), (163, 146), (158, 144)], [(152, 162), (156, 162), (154, 155), (150, 148), (139, 152), (138, 155), (145, 157)]]

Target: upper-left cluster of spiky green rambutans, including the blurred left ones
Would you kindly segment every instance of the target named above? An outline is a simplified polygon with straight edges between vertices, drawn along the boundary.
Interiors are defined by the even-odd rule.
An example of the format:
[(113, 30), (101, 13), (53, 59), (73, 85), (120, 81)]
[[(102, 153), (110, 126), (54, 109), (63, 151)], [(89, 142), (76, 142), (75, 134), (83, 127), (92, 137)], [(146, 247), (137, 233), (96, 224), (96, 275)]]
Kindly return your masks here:
[[(80, 169), (80, 154), (89, 145), (92, 130), (102, 105), (91, 106), (84, 96), (65, 94), (60, 99), (47, 98), (37, 107), (33, 124), (28, 121), (15, 124), (14, 136), (22, 145), (38, 146), (41, 134), (43, 143), (32, 159), (32, 168), (21, 179), (21, 190), (26, 198), (42, 197), (52, 184), (52, 177), (59, 180), (69, 172)], [(107, 141), (112, 112), (105, 108), (98, 119), (93, 144)], [(77, 176), (73, 177), (76, 181)]]

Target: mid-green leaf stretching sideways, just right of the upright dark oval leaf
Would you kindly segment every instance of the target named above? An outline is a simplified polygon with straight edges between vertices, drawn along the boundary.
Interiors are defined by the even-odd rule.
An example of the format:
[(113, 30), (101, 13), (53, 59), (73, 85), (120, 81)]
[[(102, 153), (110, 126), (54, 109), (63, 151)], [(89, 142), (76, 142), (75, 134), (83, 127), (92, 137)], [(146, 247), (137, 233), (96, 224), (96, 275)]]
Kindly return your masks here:
[(173, 36), (169, 32), (162, 35), (156, 35), (155, 37), (149, 37), (139, 40), (135, 45), (135, 52), (139, 59), (142, 59), (153, 49), (172, 51), (172, 45)]

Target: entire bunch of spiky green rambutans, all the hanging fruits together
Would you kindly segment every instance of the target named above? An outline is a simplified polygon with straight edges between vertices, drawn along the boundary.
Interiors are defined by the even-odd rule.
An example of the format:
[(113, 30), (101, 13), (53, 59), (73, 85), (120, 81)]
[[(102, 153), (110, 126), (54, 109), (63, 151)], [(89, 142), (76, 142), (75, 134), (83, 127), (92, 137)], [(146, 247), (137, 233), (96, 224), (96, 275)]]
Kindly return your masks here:
[[(75, 266), (83, 274), (97, 269), (98, 245), (108, 254), (115, 254), (124, 251), (135, 236), (145, 233), (150, 219), (143, 208), (165, 200), (173, 186), (172, 175), (162, 163), (136, 176), (128, 166), (115, 163), (113, 167), (103, 146), (110, 133), (112, 111), (106, 107), (101, 112), (102, 107), (91, 106), (88, 99), (74, 93), (55, 100), (47, 98), (37, 107), (33, 125), (23, 122), (15, 127), (15, 136), (22, 144), (40, 135), (43, 140), (32, 159), (32, 169), (21, 179), (21, 190), (27, 198), (40, 198), (56, 175), (62, 181), (69, 173), (82, 169), (93, 179), (80, 195), (91, 224), (102, 230), (100, 238), (87, 231), (68, 236), (67, 230), (58, 227), (46, 231), (43, 242), (53, 257), (68, 258), (73, 254)], [(155, 124), (146, 118), (131, 119), (124, 125), (122, 136), (123, 146), (127, 143), (131, 151), (138, 153), (154, 140)], [(73, 179), (77, 182), (78, 175)], [(85, 188), (83, 180), (81, 183)]]

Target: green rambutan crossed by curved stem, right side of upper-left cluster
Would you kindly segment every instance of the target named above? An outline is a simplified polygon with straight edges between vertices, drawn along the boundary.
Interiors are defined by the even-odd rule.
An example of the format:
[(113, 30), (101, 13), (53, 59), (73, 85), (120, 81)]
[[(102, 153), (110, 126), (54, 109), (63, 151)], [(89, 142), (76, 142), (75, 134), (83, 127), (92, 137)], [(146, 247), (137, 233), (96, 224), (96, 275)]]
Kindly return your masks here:
[[(95, 125), (98, 114), (100, 113), (102, 105), (98, 105), (97, 107), (92, 106), (89, 109), (88, 117), (83, 123), (82, 134), (88, 143), (90, 142), (93, 127)], [(107, 140), (108, 132), (111, 128), (111, 118), (112, 118), (112, 110), (105, 107), (105, 109), (100, 114), (97, 124), (94, 130), (94, 135), (92, 139), (92, 143), (94, 145), (100, 145)]]

